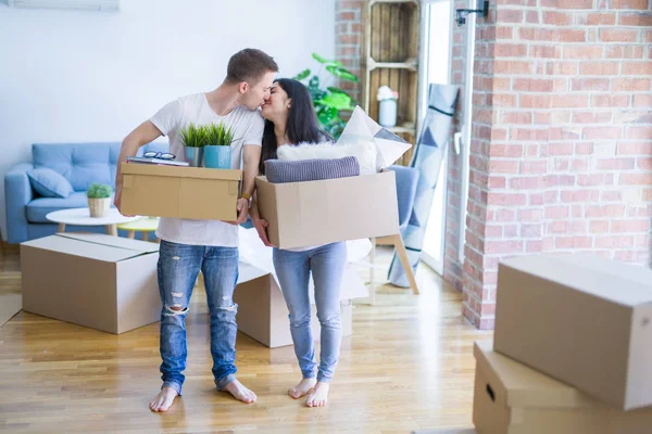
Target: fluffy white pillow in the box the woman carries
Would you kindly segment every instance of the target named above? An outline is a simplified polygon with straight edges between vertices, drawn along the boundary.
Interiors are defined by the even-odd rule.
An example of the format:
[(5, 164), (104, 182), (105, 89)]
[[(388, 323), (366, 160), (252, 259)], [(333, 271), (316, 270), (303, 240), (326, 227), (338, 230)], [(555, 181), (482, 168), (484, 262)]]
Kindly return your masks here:
[(299, 143), (297, 145), (284, 144), (276, 150), (278, 159), (293, 162), (313, 158), (342, 158), (354, 156), (360, 163), (360, 175), (376, 174), (376, 145), (372, 142), (356, 144), (323, 143)]

